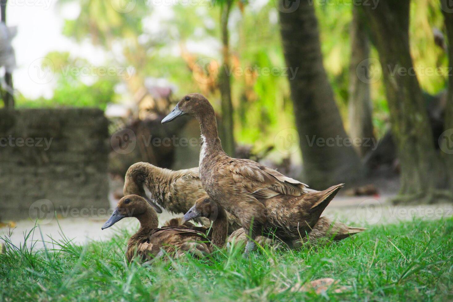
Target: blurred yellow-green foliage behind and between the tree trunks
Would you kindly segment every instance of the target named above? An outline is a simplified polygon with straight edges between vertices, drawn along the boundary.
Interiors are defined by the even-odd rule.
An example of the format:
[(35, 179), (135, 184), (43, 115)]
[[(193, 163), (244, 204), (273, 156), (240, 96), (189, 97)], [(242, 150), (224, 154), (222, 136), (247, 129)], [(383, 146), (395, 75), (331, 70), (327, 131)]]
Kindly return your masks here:
[[(59, 0), (64, 3), (72, 0)], [(122, 3), (120, 3), (123, 1)], [(66, 20), (63, 32), (75, 41), (89, 41), (101, 47), (115, 58), (106, 62), (108, 66), (133, 66), (136, 78), (130, 86), (137, 86), (146, 77), (165, 78), (177, 87), (175, 98), (186, 93), (200, 92), (200, 84), (193, 77), (189, 63), (182, 58), (186, 50), (194, 61), (209, 57), (221, 62), (220, 7), (225, 2), (200, 1), (197, 5), (186, 2), (169, 6), (172, 14), (160, 21), (151, 21), (160, 10), (152, 5), (153, 1), (130, 1), (135, 7), (121, 13), (120, 4), (124, 0), (80, 2), (81, 13), (74, 20)], [(351, 1), (314, 1), (324, 56), (324, 66), (332, 84), (338, 107), (343, 119), (347, 121), (350, 37), (349, 27), (352, 20)], [(443, 49), (434, 44), (433, 28), (445, 32), (443, 16), (438, 0), (412, 1), (410, 11), (410, 46), (420, 86), (430, 94), (439, 93), (445, 88), (445, 74), (429, 74), (427, 68), (441, 68), (447, 72), (447, 57)], [(234, 1), (230, 21), (230, 49), (232, 74), (232, 99), (235, 108), (235, 137), (240, 143), (255, 144), (260, 149), (273, 144), (275, 134), (281, 129), (294, 128), (294, 116), (290, 102), (289, 85), (286, 75), (264, 76), (256, 72), (252, 77), (236, 73), (246, 68), (262, 71), (263, 68), (280, 68), (284, 71), (283, 50), (280, 41), (278, 10), (274, 1), (262, 6), (245, 1)], [(196, 50), (194, 45), (197, 45)], [(190, 47), (191, 46), (191, 47)], [(115, 51), (114, 51), (115, 48)], [(189, 49), (189, 50), (187, 50)], [(115, 55), (113, 55), (115, 53)], [(118, 56), (118, 54), (120, 54)], [(53, 61), (71, 66), (84, 66), (88, 62), (72, 59), (68, 54), (53, 53)], [(372, 49), (372, 58), (379, 58)], [(57, 64), (56, 64), (57, 65)], [(59, 64), (58, 64), (59, 65)], [(433, 69), (434, 70), (434, 69)], [(125, 81), (118, 77), (118, 82)], [(110, 79), (109, 79), (110, 81)], [(97, 104), (103, 107), (106, 97), (118, 99), (110, 90), (78, 83), (72, 80), (61, 81), (56, 88), (55, 105), (64, 104), (59, 100), (64, 91), (72, 96), (81, 96), (80, 105)], [(130, 83), (128, 83), (129, 85)], [(104, 83), (98, 86), (106, 87)], [(75, 90), (80, 88), (80, 93)], [(382, 79), (373, 83), (372, 100), (374, 104), (373, 123), (376, 134), (381, 136), (389, 128), (389, 114), (386, 105), (385, 87)], [(93, 103), (90, 89), (101, 94), (101, 100)], [(110, 89), (110, 88), (109, 88)], [(131, 93), (133, 95), (133, 92)], [(61, 96), (61, 97), (60, 97)], [(214, 89), (209, 99), (216, 108), (220, 99)], [(52, 100), (46, 105), (51, 106)], [(29, 103), (19, 101), (19, 104)], [(42, 102), (41, 102), (42, 103)], [(40, 104), (39, 101), (34, 104)], [(72, 104), (72, 102), (71, 102)], [(347, 125), (347, 122), (345, 123)]]

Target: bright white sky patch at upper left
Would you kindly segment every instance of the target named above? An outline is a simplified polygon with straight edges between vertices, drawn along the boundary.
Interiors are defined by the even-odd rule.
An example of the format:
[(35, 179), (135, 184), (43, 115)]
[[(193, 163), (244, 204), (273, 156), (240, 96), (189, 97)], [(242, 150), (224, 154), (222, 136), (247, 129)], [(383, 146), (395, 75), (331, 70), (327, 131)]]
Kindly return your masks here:
[(52, 79), (40, 78), (36, 70), (50, 51), (70, 51), (93, 64), (103, 62), (100, 49), (89, 44), (78, 45), (61, 34), (63, 19), (73, 19), (79, 14), (77, 2), (63, 8), (56, 4), (56, 0), (8, 0), (7, 25), (18, 27), (13, 40), (17, 62), (13, 73), (14, 88), (29, 98), (53, 94)]

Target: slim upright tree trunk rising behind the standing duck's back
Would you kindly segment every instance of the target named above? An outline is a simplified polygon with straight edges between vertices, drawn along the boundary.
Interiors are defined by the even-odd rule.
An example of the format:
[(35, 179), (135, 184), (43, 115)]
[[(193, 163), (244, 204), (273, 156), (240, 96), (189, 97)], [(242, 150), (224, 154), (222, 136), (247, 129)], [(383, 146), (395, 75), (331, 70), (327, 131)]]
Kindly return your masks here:
[(230, 64), (230, 47), (228, 34), (228, 19), (230, 16), (232, 0), (226, 0), (221, 9), (222, 27), (222, 56), (223, 64), (219, 70), (219, 90), (222, 102), (222, 147), (225, 152), (234, 157), (234, 124), (233, 124), (233, 104), (231, 102), (231, 79), (228, 70)]

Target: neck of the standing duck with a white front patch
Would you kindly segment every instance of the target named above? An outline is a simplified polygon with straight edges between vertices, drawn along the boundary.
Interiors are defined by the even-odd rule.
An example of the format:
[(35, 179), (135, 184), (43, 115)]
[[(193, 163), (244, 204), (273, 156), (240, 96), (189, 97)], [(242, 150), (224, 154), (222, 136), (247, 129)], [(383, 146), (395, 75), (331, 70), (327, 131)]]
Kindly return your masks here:
[[(212, 109), (212, 108), (211, 108)], [(202, 161), (209, 158), (213, 153), (225, 153), (222, 149), (222, 143), (217, 130), (217, 120), (214, 109), (211, 112), (205, 112), (202, 115), (196, 115), (195, 118), (200, 123), (202, 147), (200, 152), (200, 166)]]

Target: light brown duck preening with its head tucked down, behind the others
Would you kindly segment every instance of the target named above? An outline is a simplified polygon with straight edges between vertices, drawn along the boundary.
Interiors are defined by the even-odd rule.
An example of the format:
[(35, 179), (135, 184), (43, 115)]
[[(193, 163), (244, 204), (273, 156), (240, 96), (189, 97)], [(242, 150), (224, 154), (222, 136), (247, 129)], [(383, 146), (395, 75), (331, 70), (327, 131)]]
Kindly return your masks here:
[[(145, 194), (144, 185), (151, 192), (153, 201)], [(134, 163), (129, 167), (125, 176), (123, 187), (124, 195), (136, 194), (145, 198), (155, 207), (162, 206), (165, 210), (174, 214), (185, 214), (192, 206), (193, 201), (200, 197), (207, 197), (198, 174), (198, 168), (173, 171), (159, 168), (150, 163)], [(156, 203), (159, 206), (156, 205)], [(159, 208), (159, 213), (162, 210)], [(228, 216), (229, 230), (237, 230), (241, 227), (240, 221)], [(209, 226), (210, 222), (200, 218), (203, 225)]]

